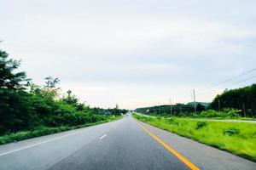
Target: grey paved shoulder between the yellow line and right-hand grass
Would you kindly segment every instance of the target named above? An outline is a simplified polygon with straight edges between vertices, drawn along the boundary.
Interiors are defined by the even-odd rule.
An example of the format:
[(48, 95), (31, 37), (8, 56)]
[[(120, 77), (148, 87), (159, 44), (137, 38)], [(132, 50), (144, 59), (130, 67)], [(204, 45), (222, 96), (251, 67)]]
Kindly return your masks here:
[[(137, 121), (137, 120), (135, 120)], [(224, 150), (212, 148), (206, 144), (201, 144), (192, 139), (186, 139), (177, 134), (167, 132), (158, 127), (153, 127), (144, 122), (139, 122), (147, 127), (154, 135), (162, 139), (177, 150), (178, 153), (189, 159), (201, 169), (255, 169), (256, 163), (248, 161), (239, 156), (232, 155)]]

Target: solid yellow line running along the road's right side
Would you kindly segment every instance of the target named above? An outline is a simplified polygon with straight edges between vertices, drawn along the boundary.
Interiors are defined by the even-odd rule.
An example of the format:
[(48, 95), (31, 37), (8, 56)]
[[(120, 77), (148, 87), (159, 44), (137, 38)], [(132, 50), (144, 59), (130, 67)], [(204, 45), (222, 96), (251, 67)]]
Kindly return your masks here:
[(160, 144), (162, 144), (166, 150), (169, 150), (174, 156), (177, 156), (177, 158), (180, 161), (183, 161), (184, 164), (186, 164), (189, 168), (191, 168), (192, 170), (200, 170), (199, 167), (196, 167), (193, 163), (191, 163), (189, 160), (187, 160), (186, 158), (184, 158), (183, 156), (181, 156), (179, 153), (177, 153), (176, 150), (173, 150), (171, 146), (169, 146), (168, 144), (166, 144), (164, 141), (162, 141), (160, 138), (158, 138), (157, 136), (155, 136), (153, 133), (151, 133), (146, 127), (143, 127), (143, 125), (141, 125), (140, 123), (136, 122), (137, 125), (139, 127), (142, 127), (143, 130), (148, 133), (150, 136), (152, 136), (154, 139), (156, 139)]

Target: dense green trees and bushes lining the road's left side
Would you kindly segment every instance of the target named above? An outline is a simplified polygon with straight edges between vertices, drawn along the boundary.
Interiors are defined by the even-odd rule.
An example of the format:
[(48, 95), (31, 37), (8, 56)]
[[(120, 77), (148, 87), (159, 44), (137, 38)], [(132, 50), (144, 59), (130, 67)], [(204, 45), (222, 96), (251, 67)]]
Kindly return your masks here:
[[(109, 116), (79, 103), (71, 91), (59, 98), (58, 78), (46, 77), (45, 85), (38, 86), (17, 72), (20, 61), (8, 59), (0, 50), (0, 135), (38, 127), (78, 126), (101, 122)], [(114, 114), (121, 111), (118, 108)], [(112, 112), (110, 113), (112, 114)]]

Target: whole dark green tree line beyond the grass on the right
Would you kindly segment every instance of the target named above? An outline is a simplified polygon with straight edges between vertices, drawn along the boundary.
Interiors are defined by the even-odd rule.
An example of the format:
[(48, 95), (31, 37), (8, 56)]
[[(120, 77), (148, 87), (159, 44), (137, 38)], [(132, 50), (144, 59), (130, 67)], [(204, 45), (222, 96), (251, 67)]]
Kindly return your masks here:
[[(245, 88), (237, 88), (225, 90), (223, 94), (219, 94), (211, 103), (190, 102), (188, 104), (176, 105), (157, 105), (152, 107), (137, 108), (136, 111), (153, 115), (171, 115), (172, 116), (196, 116), (201, 115), (237, 115), (238, 116), (256, 116), (256, 84)], [(172, 109), (171, 109), (172, 108)], [(234, 110), (235, 109), (235, 110)], [(172, 110), (172, 111), (171, 111)], [(213, 110), (213, 111), (209, 111)], [(209, 111), (208, 113), (205, 111)], [(217, 112), (222, 112), (218, 114)], [(214, 114), (212, 114), (214, 113)], [(232, 113), (232, 114), (231, 114)], [(202, 116), (202, 115), (201, 115)]]

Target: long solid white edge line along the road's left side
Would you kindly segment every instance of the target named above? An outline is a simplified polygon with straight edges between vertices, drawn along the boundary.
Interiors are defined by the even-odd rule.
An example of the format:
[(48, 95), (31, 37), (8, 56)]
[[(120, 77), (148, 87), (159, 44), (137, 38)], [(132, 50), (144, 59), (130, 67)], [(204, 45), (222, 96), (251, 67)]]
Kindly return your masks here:
[(32, 148), (32, 147), (35, 147), (35, 146), (40, 145), (40, 144), (45, 144), (45, 143), (52, 142), (52, 141), (55, 141), (55, 140), (58, 140), (58, 139), (66, 138), (66, 137), (68, 137), (68, 136), (72, 136), (72, 135), (75, 135), (75, 134), (78, 134), (78, 133), (83, 133), (84, 131), (91, 130), (91, 129), (93, 129), (93, 128), (96, 128), (96, 127), (87, 128), (87, 129), (81, 130), (81, 131), (76, 132), (76, 133), (66, 134), (66, 135), (64, 135), (64, 136), (60, 136), (60, 137), (57, 137), (57, 138), (55, 138), (55, 139), (45, 140), (44, 142), (40, 142), (40, 143), (38, 143), (38, 144), (28, 145), (28, 146), (26, 146), (26, 147), (22, 147), (22, 148), (17, 149), (17, 150), (10, 150), (10, 151), (8, 151), (8, 152), (4, 152), (4, 153), (0, 154), (0, 156), (8, 155), (8, 154), (14, 153), (14, 152), (19, 151), (19, 150), (25, 150), (25, 149)]

